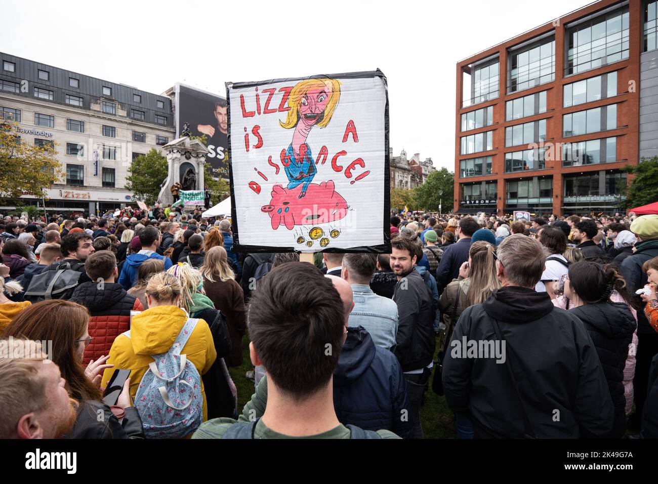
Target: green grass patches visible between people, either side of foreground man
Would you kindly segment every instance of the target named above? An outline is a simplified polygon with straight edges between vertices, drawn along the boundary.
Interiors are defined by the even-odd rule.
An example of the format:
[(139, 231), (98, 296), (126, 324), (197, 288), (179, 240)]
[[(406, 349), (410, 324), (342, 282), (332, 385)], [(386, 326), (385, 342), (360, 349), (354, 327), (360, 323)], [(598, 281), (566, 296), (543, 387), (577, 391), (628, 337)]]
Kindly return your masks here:
[[(241, 414), (243, 406), (251, 399), (254, 392), (253, 381), (247, 380), (245, 373), (253, 370), (251, 360), (249, 360), (249, 335), (245, 334), (242, 338), (242, 365), (239, 367), (229, 368), (228, 371), (238, 389), (238, 414)], [(438, 351), (438, 341), (437, 341)], [(436, 354), (434, 355), (436, 361)], [(424, 402), (420, 408), (420, 418), (422, 421), (422, 430), (426, 439), (454, 439), (457, 437), (455, 431), (445, 428), (441, 423), (441, 417), (450, 417), (454, 419), (455, 414), (447, 407), (444, 396), (438, 396), (432, 391), (432, 379), (434, 371), (428, 383), (428, 390), (425, 392)]]

